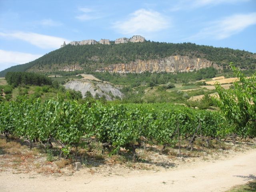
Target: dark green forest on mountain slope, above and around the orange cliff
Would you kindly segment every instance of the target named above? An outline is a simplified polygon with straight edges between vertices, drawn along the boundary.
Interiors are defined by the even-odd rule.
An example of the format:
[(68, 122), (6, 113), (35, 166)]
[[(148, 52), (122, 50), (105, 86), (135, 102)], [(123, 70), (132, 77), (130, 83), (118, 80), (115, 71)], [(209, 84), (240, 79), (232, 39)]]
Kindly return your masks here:
[(67, 45), (32, 62), (8, 68), (0, 72), (0, 76), (3, 77), (6, 72), (14, 71), (52, 72), (71, 65), (77, 66), (74, 70), (90, 72), (111, 64), (125, 64), (137, 59), (153, 60), (176, 55), (206, 59), (223, 68), (228, 67), (229, 62), (234, 62), (242, 69), (256, 68), (256, 54), (244, 50), (214, 48), (192, 43), (173, 44), (147, 41), (110, 45)]

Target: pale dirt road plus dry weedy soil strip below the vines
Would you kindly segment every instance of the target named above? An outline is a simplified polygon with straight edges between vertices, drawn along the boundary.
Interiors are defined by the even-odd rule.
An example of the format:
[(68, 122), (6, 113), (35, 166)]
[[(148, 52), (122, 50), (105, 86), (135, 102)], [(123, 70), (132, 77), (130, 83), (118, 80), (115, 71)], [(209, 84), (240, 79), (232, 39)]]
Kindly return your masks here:
[[(18, 142), (0, 140), (0, 191), (226, 191), (256, 178), (255, 142), (230, 141), (211, 148), (195, 143), (193, 152), (161, 146), (136, 150), (138, 161), (127, 156), (103, 156), (86, 150), (82, 168), (74, 171), (68, 160), (47, 161), (39, 148), (29, 150)], [(222, 148), (224, 150), (218, 150)], [(84, 149), (80, 149), (80, 154)], [(125, 152), (125, 149), (123, 149)]]

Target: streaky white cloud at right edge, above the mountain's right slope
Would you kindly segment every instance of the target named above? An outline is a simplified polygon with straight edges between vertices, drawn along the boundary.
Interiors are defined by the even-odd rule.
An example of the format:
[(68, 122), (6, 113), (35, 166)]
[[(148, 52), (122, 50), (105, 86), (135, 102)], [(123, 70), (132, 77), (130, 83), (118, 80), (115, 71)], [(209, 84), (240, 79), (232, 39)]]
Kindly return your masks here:
[(237, 34), (254, 24), (256, 24), (256, 12), (249, 14), (236, 14), (211, 22), (211, 26), (203, 28), (196, 35), (191, 36), (188, 39), (214, 38), (220, 40)]

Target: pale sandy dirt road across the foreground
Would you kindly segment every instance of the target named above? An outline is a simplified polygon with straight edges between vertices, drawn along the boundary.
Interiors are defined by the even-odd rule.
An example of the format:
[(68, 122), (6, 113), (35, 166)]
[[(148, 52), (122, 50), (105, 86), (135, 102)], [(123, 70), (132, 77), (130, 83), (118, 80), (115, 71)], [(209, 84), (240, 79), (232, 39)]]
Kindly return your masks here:
[(43, 176), (0, 172), (0, 191), (10, 192), (219, 192), (256, 179), (256, 150), (214, 162), (200, 162), (168, 172), (132, 172), (97, 176), (78, 171), (74, 176)]

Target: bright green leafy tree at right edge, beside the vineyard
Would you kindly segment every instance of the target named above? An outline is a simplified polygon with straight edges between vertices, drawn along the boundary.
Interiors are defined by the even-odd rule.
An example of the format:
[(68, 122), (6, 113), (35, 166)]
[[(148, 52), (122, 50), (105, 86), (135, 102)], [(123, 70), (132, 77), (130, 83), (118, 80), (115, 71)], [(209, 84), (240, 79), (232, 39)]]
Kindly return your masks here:
[(228, 90), (224, 90), (218, 82), (215, 84), (220, 96), (217, 104), (224, 116), (234, 123), (234, 132), (242, 136), (256, 136), (256, 73), (247, 78), (232, 62), (230, 67), (239, 81)]

